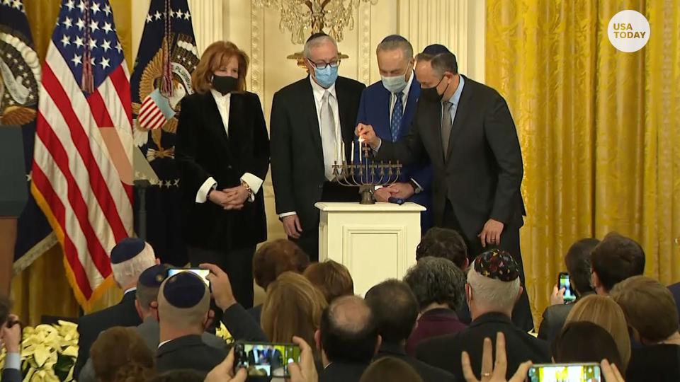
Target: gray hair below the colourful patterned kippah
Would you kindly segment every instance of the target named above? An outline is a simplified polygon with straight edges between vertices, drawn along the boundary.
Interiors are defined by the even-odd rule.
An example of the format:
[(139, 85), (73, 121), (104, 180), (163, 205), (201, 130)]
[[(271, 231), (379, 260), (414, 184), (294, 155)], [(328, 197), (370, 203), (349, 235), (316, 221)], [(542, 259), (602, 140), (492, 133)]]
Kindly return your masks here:
[(467, 284), (474, 292), (473, 298), (487, 308), (497, 311), (512, 310), (519, 294), (519, 277), (511, 282), (489, 279), (475, 270), (474, 263), (467, 271)]

